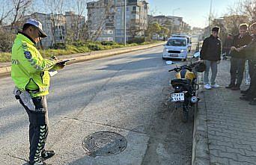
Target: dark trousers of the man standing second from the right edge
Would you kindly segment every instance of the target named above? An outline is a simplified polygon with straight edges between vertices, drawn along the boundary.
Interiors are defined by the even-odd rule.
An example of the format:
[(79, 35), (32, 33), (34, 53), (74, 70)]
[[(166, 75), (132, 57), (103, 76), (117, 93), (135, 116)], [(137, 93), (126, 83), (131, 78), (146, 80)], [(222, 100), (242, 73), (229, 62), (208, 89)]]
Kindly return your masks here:
[(243, 72), (245, 70), (245, 65), (245, 59), (231, 57), (231, 85), (236, 85), (237, 87), (240, 87), (243, 81)]

